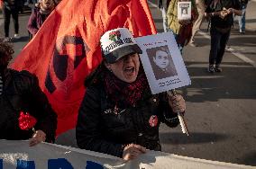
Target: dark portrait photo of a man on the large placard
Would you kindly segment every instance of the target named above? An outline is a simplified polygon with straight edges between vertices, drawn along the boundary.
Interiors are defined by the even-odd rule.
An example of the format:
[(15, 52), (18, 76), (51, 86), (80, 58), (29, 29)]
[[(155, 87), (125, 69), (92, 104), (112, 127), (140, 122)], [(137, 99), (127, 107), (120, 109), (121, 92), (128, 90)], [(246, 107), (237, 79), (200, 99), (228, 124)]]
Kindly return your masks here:
[(151, 61), (151, 67), (157, 80), (169, 76), (177, 76), (176, 68), (169, 54), (168, 46), (160, 46), (147, 49), (148, 57)]

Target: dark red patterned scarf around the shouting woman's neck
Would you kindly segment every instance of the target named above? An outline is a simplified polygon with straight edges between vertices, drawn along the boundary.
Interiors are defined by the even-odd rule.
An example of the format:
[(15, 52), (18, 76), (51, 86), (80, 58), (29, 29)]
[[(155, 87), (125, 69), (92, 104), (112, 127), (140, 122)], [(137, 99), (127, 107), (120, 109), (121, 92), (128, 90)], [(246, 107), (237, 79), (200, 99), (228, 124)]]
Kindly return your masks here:
[(133, 83), (123, 82), (110, 71), (105, 73), (105, 90), (114, 102), (123, 100), (133, 105), (142, 98), (142, 93), (148, 86), (147, 78), (142, 72)]

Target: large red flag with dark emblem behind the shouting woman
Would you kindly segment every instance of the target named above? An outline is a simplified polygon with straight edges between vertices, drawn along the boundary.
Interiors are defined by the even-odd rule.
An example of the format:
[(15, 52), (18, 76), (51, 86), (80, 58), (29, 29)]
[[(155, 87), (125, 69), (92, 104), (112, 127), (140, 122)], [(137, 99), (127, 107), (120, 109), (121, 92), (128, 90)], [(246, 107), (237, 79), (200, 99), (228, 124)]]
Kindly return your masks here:
[(15, 58), (14, 69), (38, 76), (58, 114), (57, 134), (76, 126), (84, 80), (102, 59), (100, 37), (118, 27), (155, 34), (147, 0), (62, 0)]

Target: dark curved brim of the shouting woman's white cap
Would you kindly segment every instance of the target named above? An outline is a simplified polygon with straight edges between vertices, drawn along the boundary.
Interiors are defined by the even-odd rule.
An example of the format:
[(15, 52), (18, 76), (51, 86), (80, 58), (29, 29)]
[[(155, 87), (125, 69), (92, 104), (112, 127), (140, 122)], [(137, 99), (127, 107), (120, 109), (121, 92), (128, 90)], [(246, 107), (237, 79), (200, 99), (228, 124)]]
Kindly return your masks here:
[(142, 54), (142, 49), (137, 44), (124, 46), (122, 48), (115, 49), (113, 52), (105, 55), (105, 59), (107, 63), (113, 64), (118, 59), (123, 58), (124, 56), (132, 53)]

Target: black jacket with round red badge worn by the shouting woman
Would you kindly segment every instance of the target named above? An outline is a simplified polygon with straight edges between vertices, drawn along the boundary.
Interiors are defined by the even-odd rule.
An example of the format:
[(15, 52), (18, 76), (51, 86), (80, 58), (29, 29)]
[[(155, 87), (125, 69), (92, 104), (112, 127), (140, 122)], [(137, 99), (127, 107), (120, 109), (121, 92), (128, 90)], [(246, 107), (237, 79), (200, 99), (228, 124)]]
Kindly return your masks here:
[(148, 89), (140, 101), (127, 106), (123, 101), (113, 102), (100, 80), (87, 87), (78, 112), (78, 147), (119, 157), (131, 143), (160, 151), (160, 122), (178, 125), (164, 94), (152, 95)]

